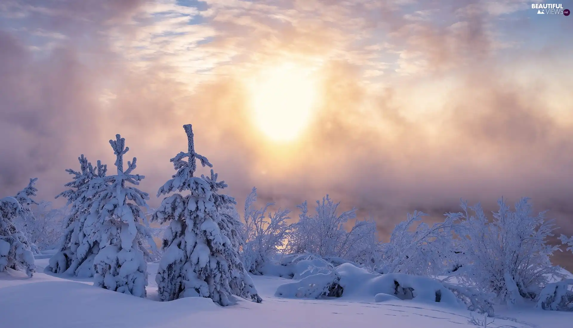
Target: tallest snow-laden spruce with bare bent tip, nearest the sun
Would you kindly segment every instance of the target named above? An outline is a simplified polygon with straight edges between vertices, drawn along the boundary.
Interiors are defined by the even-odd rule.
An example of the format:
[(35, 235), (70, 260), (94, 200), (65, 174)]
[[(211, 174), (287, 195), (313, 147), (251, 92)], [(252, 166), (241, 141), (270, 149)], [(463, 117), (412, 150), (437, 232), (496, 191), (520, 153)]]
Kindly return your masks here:
[(189, 191), (190, 195), (174, 193), (165, 197), (152, 218), (170, 223), (163, 236), (164, 255), (156, 276), (159, 299), (206, 297), (226, 306), (237, 295), (260, 303), (238, 255), (237, 223), (225, 212), (235, 204), (234, 198), (217, 192), (227, 185), (225, 181), (217, 182), (213, 170), (211, 177), (193, 176), (197, 159), (203, 166), (212, 165), (195, 153), (191, 124), (183, 125), (183, 129), (187, 133), (187, 152), (171, 159), (177, 172), (159, 188), (157, 196), (175, 190)]

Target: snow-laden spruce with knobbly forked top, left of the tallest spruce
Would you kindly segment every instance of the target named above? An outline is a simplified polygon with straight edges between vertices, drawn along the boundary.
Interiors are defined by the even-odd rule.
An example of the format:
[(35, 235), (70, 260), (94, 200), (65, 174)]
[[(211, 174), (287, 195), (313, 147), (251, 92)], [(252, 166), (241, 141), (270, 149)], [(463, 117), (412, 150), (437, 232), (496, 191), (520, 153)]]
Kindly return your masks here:
[[(123, 155), (129, 151), (125, 147), (125, 139), (116, 135), (116, 140), (109, 140), (116, 155), (115, 165), (117, 175), (94, 179), (91, 185), (99, 185), (94, 191), (93, 200), (86, 218), (87, 236), (97, 240), (100, 250), (93, 259), (95, 274), (94, 286), (146, 297), (147, 262), (146, 250), (142, 238), (147, 238), (154, 245), (147, 227), (141, 207), (148, 208), (146, 200), (149, 195), (135, 187), (127, 187), (126, 183), (138, 185), (144, 176), (133, 175), (136, 168), (136, 158), (128, 168), (123, 168)], [(100, 181), (105, 184), (100, 184)]]

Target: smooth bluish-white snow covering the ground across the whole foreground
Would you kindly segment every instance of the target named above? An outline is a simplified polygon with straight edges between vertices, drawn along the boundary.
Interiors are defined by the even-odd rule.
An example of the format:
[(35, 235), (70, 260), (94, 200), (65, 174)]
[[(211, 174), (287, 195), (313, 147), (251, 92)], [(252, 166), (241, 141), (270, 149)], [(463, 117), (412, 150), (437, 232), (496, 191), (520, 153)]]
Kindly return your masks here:
[[(155, 263), (148, 264), (147, 299), (93, 287), (91, 279), (44, 274), (47, 264), (48, 259), (38, 256), (40, 272), (32, 278), (21, 272), (0, 272), (1, 327), (476, 327), (468, 323), (469, 311), (415, 301), (376, 303), (371, 295), (363, 299), (355, 295), (327, 300), (277, 298), (273, 296), (277, 287), (293, 282), (277, 276), (253, 276), (264, 298), (261, 304), (241, 300), (223, 308), (206, 298), (156, 302)], [(573, 320), (573, 313), (532, 309), (498, 311), (497, 315), (509, 318), (496, 318), (488, 327), (566, 327)]]

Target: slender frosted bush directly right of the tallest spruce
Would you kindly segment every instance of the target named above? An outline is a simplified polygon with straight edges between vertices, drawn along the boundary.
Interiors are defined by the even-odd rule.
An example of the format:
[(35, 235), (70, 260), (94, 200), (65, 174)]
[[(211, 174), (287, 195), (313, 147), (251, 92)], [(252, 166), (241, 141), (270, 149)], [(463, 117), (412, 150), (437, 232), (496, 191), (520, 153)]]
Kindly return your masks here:
[[(253, 274), (263, 274), (262, 267), (269, 262), (270, 256), (277, 254), (284, 246), (284, 242), (291, 230), (289, 210), (278, 209), (271, 213), (268, 211), (274, 203), (268, 203), (264, 208), (253, 208), (257, 201), (257, 188), (249, 193), (245, 200), (245, 215), (243, 235), (242, 258), (247, 271)], [(266, 216), (265, 216), (266, 215)]]

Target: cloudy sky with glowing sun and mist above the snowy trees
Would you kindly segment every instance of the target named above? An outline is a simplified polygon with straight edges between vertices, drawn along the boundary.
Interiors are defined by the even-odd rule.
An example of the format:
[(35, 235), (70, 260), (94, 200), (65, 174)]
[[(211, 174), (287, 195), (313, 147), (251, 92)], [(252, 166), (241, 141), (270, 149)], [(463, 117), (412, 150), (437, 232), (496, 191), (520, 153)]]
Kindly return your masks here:
[(4, 0), (0, 192), (52, 199), (120, 133), (156, 206), (191, 123), (239, 202), (329, 193), (384, 237), (529, 196), (573, 234), (573, 15), (531, 3)]

